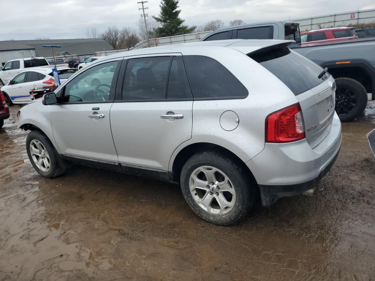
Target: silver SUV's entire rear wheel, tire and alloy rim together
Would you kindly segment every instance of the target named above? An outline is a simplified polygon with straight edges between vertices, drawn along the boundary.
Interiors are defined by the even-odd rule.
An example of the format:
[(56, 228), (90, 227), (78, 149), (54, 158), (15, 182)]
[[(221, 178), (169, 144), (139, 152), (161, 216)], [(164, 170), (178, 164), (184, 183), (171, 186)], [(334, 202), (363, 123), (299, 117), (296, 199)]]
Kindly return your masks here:
[[(215, 178), (210, 177), (212, 172)], [(214, 185), (210, 180), (215, 181)], [(220, 184), (218, 181), (228, 184)], [(242, 220), (255, 204), (258, 188), (243, 163), (219, 150), (202, 151), (190, 157), (182, 168), (180, 183), (183, 196), (195, 214), (210, 223), (220, 225), (230, 225)], [(197, 188), (190, 192), (190, 187)], [(204, 202), (211, 202), (206, 204), (211, 210)], [(225, 208), (220, 207), (219, 202)]]

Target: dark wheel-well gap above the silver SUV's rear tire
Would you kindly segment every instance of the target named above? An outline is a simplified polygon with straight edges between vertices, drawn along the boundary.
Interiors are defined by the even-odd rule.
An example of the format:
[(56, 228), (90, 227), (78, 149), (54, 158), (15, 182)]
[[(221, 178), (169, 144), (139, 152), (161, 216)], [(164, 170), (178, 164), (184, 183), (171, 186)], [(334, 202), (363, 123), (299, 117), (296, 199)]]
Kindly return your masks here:
[(239, 156), (221, 145), (210, 142), (191, 143), (181, 148), (180, 151), (178, 151), (178, 153), (174, 156), (174, 158), (171, 158), (169, 163), (169, 176), (171, 180), (173, 182), (180, 182), (181, 170), (187, 159), (189, 159), (195, 153), (207, 149), (216, 149), (219, 151), (224, 151), (226, 154), (231, 155), (231, 157), (243, 164), (244, 168), (249, 171), (250, 177), (254, 180), (255, 183), (257, 182), (249, 167), (246, 166), (245, 162)]

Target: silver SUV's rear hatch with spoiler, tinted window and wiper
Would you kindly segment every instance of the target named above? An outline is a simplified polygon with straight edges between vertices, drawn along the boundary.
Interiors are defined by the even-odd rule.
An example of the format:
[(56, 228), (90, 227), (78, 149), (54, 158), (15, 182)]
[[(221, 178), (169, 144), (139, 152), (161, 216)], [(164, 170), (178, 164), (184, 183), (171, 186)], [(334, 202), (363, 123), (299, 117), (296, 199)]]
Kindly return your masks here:
[(302, 109), (306, 140), (314, 148), (328, 135), (335, 111), (334, 79), (323, 68), (287, 47), (261, 49), (249, 57), (287, 85)]

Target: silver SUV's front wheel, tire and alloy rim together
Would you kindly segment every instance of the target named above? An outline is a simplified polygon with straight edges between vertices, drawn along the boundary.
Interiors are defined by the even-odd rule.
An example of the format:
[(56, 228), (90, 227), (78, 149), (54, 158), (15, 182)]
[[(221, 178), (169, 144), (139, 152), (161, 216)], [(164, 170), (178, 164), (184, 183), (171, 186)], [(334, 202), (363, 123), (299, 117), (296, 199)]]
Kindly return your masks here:
[[(39, 144), (41, 146), (39, 146)], [(45, 161), (41, 161), (41, 163), (39, 164), (40, 167), (38, 167), (37, 166), (38, 164), (36, 163), (37, 162), (36, 160), (39, 160), (39, 157), (37, 157), (35, 154), (32, 155), (33, 152), (31, 152), (30, 145), (33, 145), (34, 149), (39, 150), (39, 154), (40, 154), (41, 148), (44, 148), (42, 150), (44, 151), (42, 156), (44, 155), (45, 158), (43, 160)], [(34, 150), (34, 152), (36, 152), (36, 150)], [(26, 151), (27, 151), (27, 155), (28, 155), (28, 158), (30, 159), (31, 164), (41, 176), (45, 178), (55, 178), (56, 176), (61, 175), (62, 173), (65, 172), (65, 168), (61, 167), (59, 164), (57, 152), (55, 148), (53, 147), (51, 141), (49, 141), (47, 136), (44, 135), (39, 130), (31, 131), (27, 135)], [(49, 160), (48, 169), (46, 169), (46, 167), (48, 166), (47, 160)]]

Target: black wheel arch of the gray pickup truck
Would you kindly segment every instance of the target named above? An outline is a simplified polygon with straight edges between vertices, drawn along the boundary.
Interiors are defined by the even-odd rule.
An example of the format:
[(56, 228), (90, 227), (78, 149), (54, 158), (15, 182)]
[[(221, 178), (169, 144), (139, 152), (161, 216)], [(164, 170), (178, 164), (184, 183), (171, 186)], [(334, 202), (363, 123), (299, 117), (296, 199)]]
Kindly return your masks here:
[[(341, 62), (341, 63), (340, 63)], [(333, 78), (348, 77), (360, 82), (367, 90), (372, 93), (372, 100), (375, 99), (375, 69), (364, 60), (330, 61), (321, 64), (321, 67), (328, 67), (328, 72)]]

